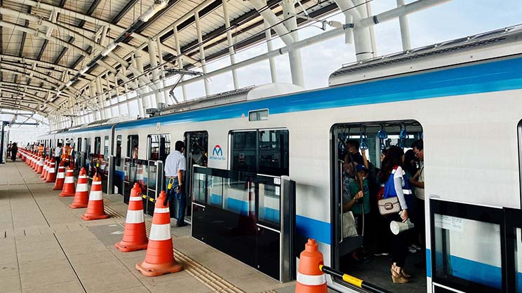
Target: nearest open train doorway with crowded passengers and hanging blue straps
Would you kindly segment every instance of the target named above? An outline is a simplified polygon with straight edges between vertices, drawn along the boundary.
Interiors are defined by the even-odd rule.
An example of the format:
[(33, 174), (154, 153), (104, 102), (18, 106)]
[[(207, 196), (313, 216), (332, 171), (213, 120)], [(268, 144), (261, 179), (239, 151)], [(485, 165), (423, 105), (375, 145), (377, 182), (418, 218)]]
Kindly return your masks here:
[[(331, 206), (335, 208), (331, 264), (337, 270), (392, 292), (426, 292), (426, 264), (423, 264), (426, 254), (422, 249), (408, 252), (405, 271), (415, 272), (415, 279), (401, 287), (392, 286), (389, 220), (382, 217), (377, 207), (377, 196), (383, 191), (380, 180), (386, 181), (379, 179), (380, 159), (390, 146), (401, 147), (415, 158), (414, 151), (409, 150), (420, 138), (422, 127), (416, 121), (347, 123), (332, 128)], [(406, 170), (405, 165), (404, 170), (415, 175), (413, 169), (419, 166), (413, 159), (410, 164), (413, 164), (411, 169)], [(361, 191), (363, 198), (355, 201), (354, 195)], [(408, 204), (408, 210), (413, 218), (415, 198), (412, 194), (407, 197), (408, 203), (412, 203), (411, 207)], [(403, 233), (408, 233), (403, 234), (408, 245), (418, 244), (417, 231)]]

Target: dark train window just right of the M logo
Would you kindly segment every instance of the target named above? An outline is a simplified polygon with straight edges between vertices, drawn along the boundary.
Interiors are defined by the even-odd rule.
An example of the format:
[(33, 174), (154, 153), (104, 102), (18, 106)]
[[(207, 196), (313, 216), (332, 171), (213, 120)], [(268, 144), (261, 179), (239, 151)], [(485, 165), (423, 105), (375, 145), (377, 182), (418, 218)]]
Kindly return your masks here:
[(232, 170), (289, 174), (288, 130), (232, 132)]

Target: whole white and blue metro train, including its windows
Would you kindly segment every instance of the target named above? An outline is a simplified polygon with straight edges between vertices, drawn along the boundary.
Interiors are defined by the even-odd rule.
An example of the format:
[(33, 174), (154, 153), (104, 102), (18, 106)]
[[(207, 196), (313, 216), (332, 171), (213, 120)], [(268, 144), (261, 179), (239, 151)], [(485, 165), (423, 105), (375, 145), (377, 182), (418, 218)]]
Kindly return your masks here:
[[(112, 155), (118, 161), (136, 149), (138, 158), (163, 159), (182, 140), (187, 156), (208, 168), (288, 175), (296, 182), (297, 233), (316, 239), (325, 264), (339, 268), (342, 246), (349, 242), (340, 226), (340, 141), (365, 137), (368, 158), (379, 167), (382, 143), (408, 147), (423, 138), (426, 292), (441, 292), (432, 280), (429, 198), (521, 208), (521, 27), (347, 64), (330, 75), (327, 88), (282, 95), (263, 92), (267, 88), (236, 90), (175, 105), (152, 118), (65, 130), (39, 141), (51, 147), (69, 141), (86, 156)], [(380, 129), (387, 141), (376, 137)], [(401, 137), (401, 130), (408, 136)], [(123, 165), (116, 170), (123, 172)], [(464, 232), (450, 231), (462, 237), (448, 244), (452, 256), (463, 260), (454, 264), (454, 273), (491, 289), (483, 292), (501, 286), (496, 275), (486, 273), (502, 266), (490, 253), (500, 246), (500, 240), (491, 240), (492, 231), (470, 222)], [(389, 275), (389, 266), (382, 275)], [(361, 292), (333, 278), (328, 285)], [(424, 278), (416, 286), (408, 292), (424, 292)]]

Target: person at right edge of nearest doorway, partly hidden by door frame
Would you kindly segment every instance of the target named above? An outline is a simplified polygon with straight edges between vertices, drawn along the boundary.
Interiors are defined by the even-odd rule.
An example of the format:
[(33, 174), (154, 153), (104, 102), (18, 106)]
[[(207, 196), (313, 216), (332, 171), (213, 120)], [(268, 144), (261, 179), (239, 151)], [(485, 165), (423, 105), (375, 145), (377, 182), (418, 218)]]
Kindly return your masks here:
[[(417, 200), (417, 211), (415, 212), (415, 229), (419, 232), (420, 247), (426, 248), (425, 216), (424, 216), (424, 141), (418, 139), (412, 144), (413, 153), (419, 159), (420, 170), (410, 179), (415, 187), (415, 200)], [(425, 258), (423, 258), (426, 261)]]

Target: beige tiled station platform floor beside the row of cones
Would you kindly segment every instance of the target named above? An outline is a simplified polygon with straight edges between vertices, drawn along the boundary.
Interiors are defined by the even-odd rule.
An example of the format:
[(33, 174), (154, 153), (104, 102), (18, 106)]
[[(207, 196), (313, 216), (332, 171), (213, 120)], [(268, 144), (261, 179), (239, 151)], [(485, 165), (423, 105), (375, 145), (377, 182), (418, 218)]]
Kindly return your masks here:
[[(105, 198), (109, 219), (83, 221), (25, 163), (0, 165), (1, 292), (229, 292), (293, 293), (281, 284), (171, 225), (175, 258), (184, 270), (145, 277), (135, 264), (145, 250), (120, 252), (127, 205)], [(145, 216), (147, 234), (152, 217)]]

